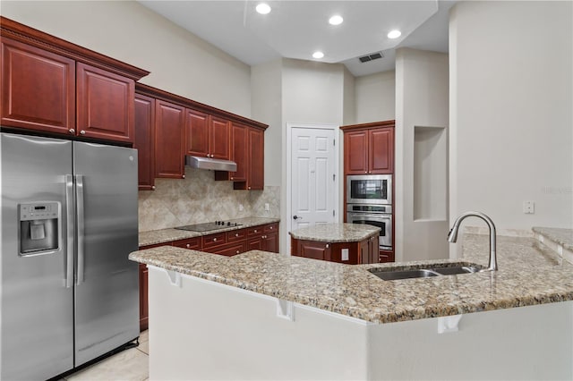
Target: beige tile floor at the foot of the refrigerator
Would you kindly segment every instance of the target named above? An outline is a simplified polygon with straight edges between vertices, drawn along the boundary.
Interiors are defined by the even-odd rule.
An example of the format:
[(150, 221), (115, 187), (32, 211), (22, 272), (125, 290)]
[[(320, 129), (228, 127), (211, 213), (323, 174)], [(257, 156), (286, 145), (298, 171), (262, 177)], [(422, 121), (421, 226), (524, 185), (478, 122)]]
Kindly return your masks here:
[(88, 368), (64, 378), (67, 381), (146, 381), (150, 375), (150, 342), (148, 331), (140, 335), (140, 345), (121, 351)]

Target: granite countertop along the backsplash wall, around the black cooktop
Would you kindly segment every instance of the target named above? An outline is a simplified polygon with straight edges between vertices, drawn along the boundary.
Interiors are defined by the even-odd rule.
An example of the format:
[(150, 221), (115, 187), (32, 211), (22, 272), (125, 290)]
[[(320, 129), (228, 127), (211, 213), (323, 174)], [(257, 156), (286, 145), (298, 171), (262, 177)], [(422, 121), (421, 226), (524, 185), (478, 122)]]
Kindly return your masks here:
[(201, 237), (203, 235), (216, 234), (221, 232), (228, 232), (230, 230), (244, 229), (251, 226), (260, 224), (272, 224), (280, 222), (280, 218), (267, 218), (267, 217), (246, 217), (228, 220), (231, 223), (241, 224), (240, 226), (221, 227), (217, 230), (210, 230), (209, 232), (190, 232), (187, 230), (178, 230), (175, 228), (152, 230), (149, 232), (140, 232), (139, 246), (156, 245), (159, 243), (166, 243), (170, 241), (184, 240), (187, 238)]

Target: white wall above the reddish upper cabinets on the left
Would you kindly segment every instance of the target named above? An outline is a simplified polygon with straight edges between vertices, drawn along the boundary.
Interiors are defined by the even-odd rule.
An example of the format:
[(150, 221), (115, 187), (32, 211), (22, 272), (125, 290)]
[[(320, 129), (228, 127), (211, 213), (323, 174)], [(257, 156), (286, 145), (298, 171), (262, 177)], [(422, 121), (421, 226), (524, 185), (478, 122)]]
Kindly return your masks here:
[(142, 83), (251, 116), (250, 67), (137, 2), (3, 0), (0, 13), (150, 71)]

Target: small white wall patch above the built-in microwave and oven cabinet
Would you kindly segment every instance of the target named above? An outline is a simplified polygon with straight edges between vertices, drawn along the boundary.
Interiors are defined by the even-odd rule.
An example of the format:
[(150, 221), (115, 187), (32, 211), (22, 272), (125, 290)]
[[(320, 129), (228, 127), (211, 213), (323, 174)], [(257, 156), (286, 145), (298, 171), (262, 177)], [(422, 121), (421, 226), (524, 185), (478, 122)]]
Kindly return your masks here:
[(355, 79), (355, 123), (396, 119), (396, 72), (377, 72)]

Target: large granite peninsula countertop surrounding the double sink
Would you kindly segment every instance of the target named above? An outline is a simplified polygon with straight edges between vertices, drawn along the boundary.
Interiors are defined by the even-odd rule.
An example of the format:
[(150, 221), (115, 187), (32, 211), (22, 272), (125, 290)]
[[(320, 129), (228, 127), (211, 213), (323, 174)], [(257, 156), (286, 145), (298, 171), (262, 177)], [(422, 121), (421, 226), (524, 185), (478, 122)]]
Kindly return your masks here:
[[(252, 250), (224, 257), (159, 247), (134, 261), (332, 311), (372, 323), (436, 318), (573, 300), (573, 266), (532, 237), (498, 236), (497, 272), (382, 281), (368, 270), (455, 260), (343, 265)], [(465, 234), (463, 262), (485, 267), (489, 237)]]

